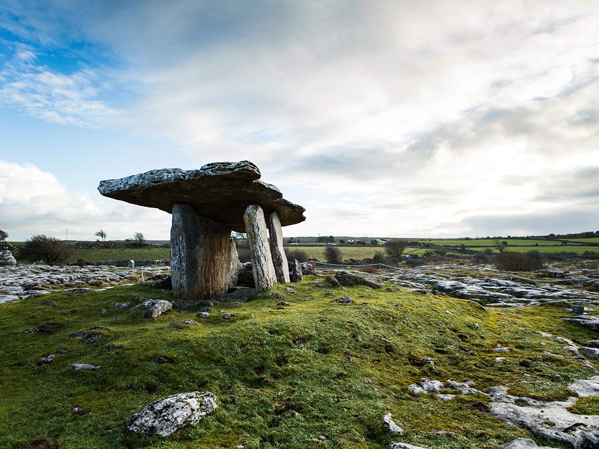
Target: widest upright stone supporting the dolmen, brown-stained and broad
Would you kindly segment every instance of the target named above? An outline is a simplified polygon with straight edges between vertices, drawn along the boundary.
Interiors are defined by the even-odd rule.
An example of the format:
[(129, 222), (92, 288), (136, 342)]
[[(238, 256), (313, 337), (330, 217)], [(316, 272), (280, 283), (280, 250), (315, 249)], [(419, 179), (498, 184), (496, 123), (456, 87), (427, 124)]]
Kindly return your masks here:
[(190, 205), (173, 206), (173, 296), (190, 301), (226, 293), (231, 284), (231, 230), (203, 222)]

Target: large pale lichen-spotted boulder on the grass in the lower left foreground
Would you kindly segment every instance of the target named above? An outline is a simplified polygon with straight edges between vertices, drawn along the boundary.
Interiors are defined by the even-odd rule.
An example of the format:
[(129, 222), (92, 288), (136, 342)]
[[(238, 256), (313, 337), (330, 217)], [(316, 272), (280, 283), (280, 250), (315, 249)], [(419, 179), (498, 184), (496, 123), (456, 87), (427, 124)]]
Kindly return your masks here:
[(217, 408), (216, 396), (210, 392), (179, 393), (158, 399), (125, 421), (131, 432), (169, 436), (183, 427), (199, 423)]

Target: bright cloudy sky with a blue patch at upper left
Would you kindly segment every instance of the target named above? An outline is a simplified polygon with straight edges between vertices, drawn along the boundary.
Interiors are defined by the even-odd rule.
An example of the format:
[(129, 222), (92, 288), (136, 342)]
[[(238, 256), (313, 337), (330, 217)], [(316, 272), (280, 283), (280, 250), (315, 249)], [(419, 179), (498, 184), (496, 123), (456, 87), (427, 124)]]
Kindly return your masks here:
[(168, 239), (99, 181), (250, 160), (286, 236), (599, 229), (599, 2), (0, 4), (0, 229)]

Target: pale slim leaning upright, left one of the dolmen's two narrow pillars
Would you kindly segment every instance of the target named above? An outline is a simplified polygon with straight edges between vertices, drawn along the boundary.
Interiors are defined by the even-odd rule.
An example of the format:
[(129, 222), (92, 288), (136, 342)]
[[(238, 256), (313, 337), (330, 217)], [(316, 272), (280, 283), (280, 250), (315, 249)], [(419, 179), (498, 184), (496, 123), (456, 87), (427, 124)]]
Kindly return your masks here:
[(277, 281), (273, 258), (268, 247), (268, 230), (264, 211), (259, 205), (250, 204), (243, 214), (246, 223), (247, 242), (250, 245), (252, 274), (258, 292), (270, 289)]

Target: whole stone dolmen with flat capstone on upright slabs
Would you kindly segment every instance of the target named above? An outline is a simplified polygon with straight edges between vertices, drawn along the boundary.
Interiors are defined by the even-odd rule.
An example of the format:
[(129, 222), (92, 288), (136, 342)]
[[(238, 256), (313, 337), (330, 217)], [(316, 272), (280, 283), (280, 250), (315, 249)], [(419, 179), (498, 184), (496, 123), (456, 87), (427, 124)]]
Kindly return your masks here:
[(98, 190), (173, 214), (173, 296), (192, 301), (235, 287), (241, 264), (231, 231), (247, 234), (256, 289), (289, 282), (282, 226), (303, 222), (305, 209), (260, 177), (247, 160), (213, 162), (199, 170), (165, 168), (105, 180)]

